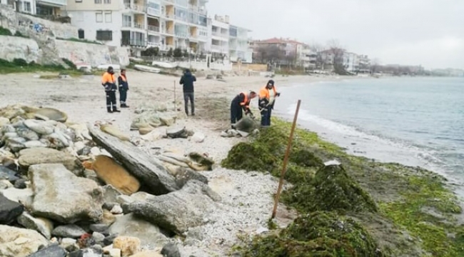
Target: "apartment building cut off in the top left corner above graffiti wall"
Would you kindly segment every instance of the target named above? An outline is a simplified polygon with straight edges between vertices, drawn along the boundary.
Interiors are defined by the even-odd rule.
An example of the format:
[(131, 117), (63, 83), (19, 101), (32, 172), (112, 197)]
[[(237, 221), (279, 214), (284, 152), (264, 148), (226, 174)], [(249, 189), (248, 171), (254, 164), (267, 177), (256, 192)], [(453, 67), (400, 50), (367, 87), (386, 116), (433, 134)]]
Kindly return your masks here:
[(59, 16), (61, 9), (66, 6), (67, 0), (0, 0), (16, 11), (40, 16)]

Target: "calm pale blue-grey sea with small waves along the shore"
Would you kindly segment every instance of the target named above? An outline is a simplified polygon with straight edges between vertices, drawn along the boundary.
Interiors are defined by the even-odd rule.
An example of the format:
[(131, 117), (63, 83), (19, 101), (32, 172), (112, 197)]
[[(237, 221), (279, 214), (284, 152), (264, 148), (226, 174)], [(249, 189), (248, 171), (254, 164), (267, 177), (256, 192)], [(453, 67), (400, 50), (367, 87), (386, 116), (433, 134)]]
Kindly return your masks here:
[(348, 79), (278, 91), (274, 114), (292, 121), (299, 99), (303, 128), (357, 156), (440, 173), (464, 196), (464, 78)]

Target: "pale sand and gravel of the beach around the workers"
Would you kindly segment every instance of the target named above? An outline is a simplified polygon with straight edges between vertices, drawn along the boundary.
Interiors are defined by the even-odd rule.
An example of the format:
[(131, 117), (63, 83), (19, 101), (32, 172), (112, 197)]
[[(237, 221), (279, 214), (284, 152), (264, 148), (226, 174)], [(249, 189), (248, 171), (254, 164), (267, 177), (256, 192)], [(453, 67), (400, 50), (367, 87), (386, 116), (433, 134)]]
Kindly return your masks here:
[[(133, 110), (140, 104), (168, 104), (174, 109), (176, 90), (176, 108), (183, 112), (182, 86), (179, 78), (138, 71), (128, 71), (127, 104), (129, 109), (121, 113), (106, 112), (106, 98), (100, 83), (100, 77), (71, 79), (39, 79), (36, 74), (8, 74), (0, 76), (1, 107), (9, 104), (26, 104), (60, 109), (69, 116), (69, 121), (90, 122), (110, 121), (131, 135), (133, 140), (141, 140), (138, 131), (130, 131), (131, 121), (136, 116)], [(225, 81), (197, 78), (195, 84), (196, 116), (188, 116), (176, 122), (177, 126), (186, 126), (194, 132), (206, 135), (203, 143), (190, 139), (163, 138), (156, 141), (143, 141), (139, 147), (154, 155), (156, 150), (189, 153), (198, 151), (219, 163), (226, 157), (230, 148), (243, 138), (223, 138), (220, 133), (230, 126), (230, 101), (241, 91), (259, 91), (269, 78), (263, 76), (224, 76)], [(277, 89), (298, 83), (317, 81), (337, 81), (334, 76), (276, 76)], [(346, 79), (346, 78), (343, 78)], [(118, 97), (117, 97), (118, 99)], [(256, 99), (251, 105), (257, 106)], [(166, 129), (162, 127), (160, 129)], [(159, 151), (159, 150), (157, 150)], [(210, 180), (209, 185), (222, 197), (216, 213), (208, 217), (205, 226), (194, 228), (187, 233), (186, 240), (178, 246), (183, 256), (226, 256), (231, 246), (238, 240), (239, 234), (251, 235), (258, 229), (266, 228), (273, 208), (271, 197), (277, 189), (278, 180), (263, 173), (231, 171), (215, 168), (203, 171)], [(278, 221), (282, 225), (294, 217), (293, 211), (279, 208)]]

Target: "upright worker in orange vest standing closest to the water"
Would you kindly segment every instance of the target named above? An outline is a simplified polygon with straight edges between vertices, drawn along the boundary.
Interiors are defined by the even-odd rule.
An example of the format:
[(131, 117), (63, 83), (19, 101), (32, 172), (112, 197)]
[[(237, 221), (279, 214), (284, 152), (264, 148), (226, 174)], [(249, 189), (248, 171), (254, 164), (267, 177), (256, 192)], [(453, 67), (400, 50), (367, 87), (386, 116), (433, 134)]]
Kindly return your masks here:
[(262, 127), (271, 126), (271, 112), (274, 109), (276, 97), (278, 96), (281, 96), (281, 93), (276, 91), (276, 86), (272, 79), (259, 91), (258, 108), (261, 111)]

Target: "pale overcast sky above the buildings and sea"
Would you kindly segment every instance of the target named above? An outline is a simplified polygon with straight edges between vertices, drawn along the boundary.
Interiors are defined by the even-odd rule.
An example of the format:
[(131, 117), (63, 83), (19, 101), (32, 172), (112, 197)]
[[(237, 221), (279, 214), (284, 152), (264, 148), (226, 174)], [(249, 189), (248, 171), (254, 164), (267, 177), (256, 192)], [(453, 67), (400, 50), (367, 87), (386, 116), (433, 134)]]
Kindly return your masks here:
[(253, 39), (336, 39), (380, 64), (464, 69), (464, 0), (209, 0), (207, 9)]

